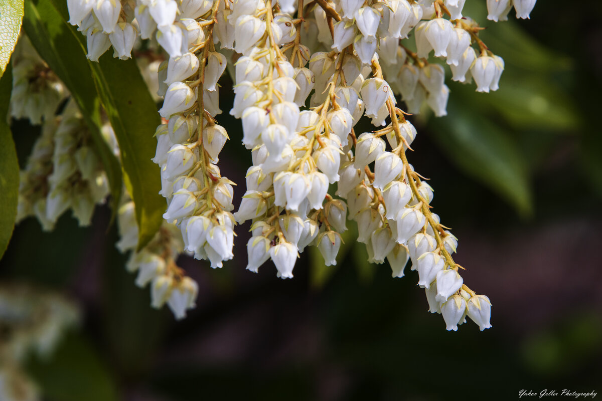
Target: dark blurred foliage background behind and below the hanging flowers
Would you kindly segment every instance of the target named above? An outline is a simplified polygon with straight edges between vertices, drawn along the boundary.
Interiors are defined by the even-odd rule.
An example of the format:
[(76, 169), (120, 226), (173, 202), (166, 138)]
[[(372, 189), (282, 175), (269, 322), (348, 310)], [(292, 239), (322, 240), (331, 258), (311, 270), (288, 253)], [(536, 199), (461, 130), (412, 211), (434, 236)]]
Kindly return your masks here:
[[(427, 312), (416, 272), (391, 278), (389, 266), (365, 262), (365, 246), (353, 240), (337, 266), (303, 254), (293, 280), (276, 278), (271, 264), (258, 275), (245, 271), (248, 223), (223, 269), (179, 261), (199, 283), (199, 298), (176, 322), (166, 308), (152, 310), (149, 290), (125, 271), (108, 208), (85, 229), (64, 215), (50, 234), (30, 218), (0, 261), (2, 291), (29, 291), (31, 308), (60, 293), (81, 311), (53, 352), (26, 358), (43, 399), (447, 400), (602, 391), (602, 3), (539, 1), (531, 20), (512, 12), (497, 24), (486, 20), (484, 4), (469, 0), (465, 14), (486, 26), (482, 39), (506, 62), (500, 90), (448, 83), (448, 117), (411, 117), (418, 136), (409, 159), (431, 179), (433, 210), (459, 239), (465, 283), (491, 299), (492, 329), (469, 322), (445, 331), (442, 317)], [(232, 101), (229, 85), (222, 105)], [(234, 139), (220, 166), (244, 183), (250, 153), (235, 134), (238, 121), (220, 117)], [(23, 166), (37, 132), (25, 121), (13, 132)], [(14, 333), (1, 322), (0, 329), (6, 343)]]

